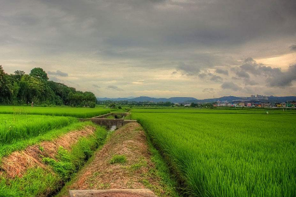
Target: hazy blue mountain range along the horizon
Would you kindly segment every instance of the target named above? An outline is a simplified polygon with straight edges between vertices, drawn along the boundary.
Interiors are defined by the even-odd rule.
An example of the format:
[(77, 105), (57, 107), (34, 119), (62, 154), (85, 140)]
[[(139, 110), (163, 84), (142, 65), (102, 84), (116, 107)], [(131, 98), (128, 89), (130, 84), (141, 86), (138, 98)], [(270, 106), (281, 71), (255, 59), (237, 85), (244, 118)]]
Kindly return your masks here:
[[(97, 98), (98, 100), (112, 100), (112, 101), (122, 101), (122, 100), (127, 100), (127, 101), (135, 101), (135, 102), (144, 102), (144, 101), (151, 101), (151, 102), (173, 102), (173, 103), (205, 103), (205, 102), (214, 102), (214, 101), (228, 101), (232, 102), (234, 100), (244, 100), (246, 97), (234, 97), (234, 96), (226, 96), (226, 97), (220, 97), (220, 98), (215, 98), (215, 99), (195, 99), (193, 97), (172, 97), (172, 98), (151, 98), (151, 97), (128, 97), (128, 98), (116, 98), (116, 99), (110, 99), (110, 98)], [(256, 99), (255, 99), (256, 100)], [(296, 97), (291, 96), (291, 97), (274, 97), (270, 96), (268, 97), (268, 102), (285, 102), (289, 100), (296, 100)], [(262, 100), (260, 101), (267, 101), (267, 100)]]

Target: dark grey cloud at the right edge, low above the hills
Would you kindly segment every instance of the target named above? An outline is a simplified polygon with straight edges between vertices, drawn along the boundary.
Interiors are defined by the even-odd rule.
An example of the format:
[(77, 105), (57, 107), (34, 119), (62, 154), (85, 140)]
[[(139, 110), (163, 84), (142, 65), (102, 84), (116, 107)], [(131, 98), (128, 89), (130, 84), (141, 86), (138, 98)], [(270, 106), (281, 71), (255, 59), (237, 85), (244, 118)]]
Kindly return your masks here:
[(292, 86), (292, 82), (296, 80), (296, 65), (289, 66), (286, 72), (280, 72), (278, 75), (268, 78), (266, 81), (271, 87), (287, 87)]

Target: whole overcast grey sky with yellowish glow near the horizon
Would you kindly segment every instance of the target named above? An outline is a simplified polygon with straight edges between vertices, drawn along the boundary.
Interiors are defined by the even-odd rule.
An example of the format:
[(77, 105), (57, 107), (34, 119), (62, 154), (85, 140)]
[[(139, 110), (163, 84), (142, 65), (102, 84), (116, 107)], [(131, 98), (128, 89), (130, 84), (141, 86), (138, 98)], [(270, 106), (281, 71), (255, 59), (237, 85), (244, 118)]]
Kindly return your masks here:
[(97, 97), (296, 95), (296, 0), (0, 0), (0, 65)]

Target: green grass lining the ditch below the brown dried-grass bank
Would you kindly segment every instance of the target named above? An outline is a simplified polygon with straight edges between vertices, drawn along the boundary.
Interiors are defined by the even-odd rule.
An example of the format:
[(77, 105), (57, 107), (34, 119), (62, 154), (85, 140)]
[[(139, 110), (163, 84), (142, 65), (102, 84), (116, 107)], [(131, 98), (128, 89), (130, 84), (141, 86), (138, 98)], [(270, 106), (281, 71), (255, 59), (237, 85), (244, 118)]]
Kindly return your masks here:
[(8, 180), (0, 177), (0, 197), (52, 196), (104, 143), (106, 135), (106, 130), (97, 127), (94, 135), (80, 138), (70, 152), (60, 148), (55, 160), (43, 158), (44, 163), (48, 164), (52, 171), (38, 167), (29, 169), (20, 178)]

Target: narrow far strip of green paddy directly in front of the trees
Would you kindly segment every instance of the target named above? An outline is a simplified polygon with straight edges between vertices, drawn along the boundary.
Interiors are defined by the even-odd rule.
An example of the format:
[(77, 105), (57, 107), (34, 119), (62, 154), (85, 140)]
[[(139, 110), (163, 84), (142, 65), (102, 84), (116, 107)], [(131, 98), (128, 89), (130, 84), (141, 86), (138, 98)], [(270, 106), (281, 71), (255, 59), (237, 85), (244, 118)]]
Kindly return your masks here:
[(37, 114), (52, 116), (73, 116), (76, 118), (92, 118), (108, 114), (117, 109), (106, 108), (78, 108), (78, 107), (27, 107), (27, 106), (0, 106), (0, 114)]

